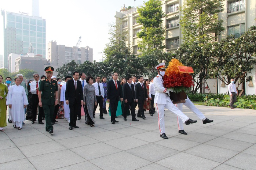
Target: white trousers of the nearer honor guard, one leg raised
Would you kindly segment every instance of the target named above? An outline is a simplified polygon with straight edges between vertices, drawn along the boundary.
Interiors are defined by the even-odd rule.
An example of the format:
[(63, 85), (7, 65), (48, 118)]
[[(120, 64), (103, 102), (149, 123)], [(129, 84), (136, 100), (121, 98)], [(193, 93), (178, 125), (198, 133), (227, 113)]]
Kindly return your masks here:
[(166, 101), (166, 102), (167, 102), (166, 104), (156, 103), (156, 109), (158, 113), (158, 127), (161, 135), (165, 133), (164, 108), (176, 114), (182, 120), (183, 123), (185, 123), (186, 120), (189, 120), (189, 117), (187, 117), (184, 113), (182, 113), (175, 105), (173, 105), (172, 102), (169, 102), (169, 101)]

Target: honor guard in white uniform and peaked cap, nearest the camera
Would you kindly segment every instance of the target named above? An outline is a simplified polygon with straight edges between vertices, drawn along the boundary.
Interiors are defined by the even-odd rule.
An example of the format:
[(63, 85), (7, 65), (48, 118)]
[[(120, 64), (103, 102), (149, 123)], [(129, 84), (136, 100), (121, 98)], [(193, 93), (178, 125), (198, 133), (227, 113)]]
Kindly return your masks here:
[(186, 125), (197, 122), (196, 120), (191, 120), (184, 113), (182, 113), (176, 106), (173, 105), (170, 97), (169, 97), (169, 89), (164, 87), (164, 81), (162, 76), (165, 74), (165, 63), (158, 64), (156, 67), (158, 75), (154, 78), (154, 85), (156, 90), (155, 101), (157, 113), (158, 113), (158, 126), (160, 130), (160, 137), (164, 139), (168, 139), (165, 135), (165, 125), (164, 125), (164, 108), (167, 108), (174, 114), (176, 114), (179, 118), (182, 119), (183, 123)]

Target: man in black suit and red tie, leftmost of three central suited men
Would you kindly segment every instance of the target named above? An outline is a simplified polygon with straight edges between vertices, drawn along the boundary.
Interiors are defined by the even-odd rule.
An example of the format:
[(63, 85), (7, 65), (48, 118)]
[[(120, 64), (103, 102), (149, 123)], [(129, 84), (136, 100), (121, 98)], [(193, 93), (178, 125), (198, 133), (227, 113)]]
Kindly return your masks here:
[(111, 123), (115, 124), (118, 122), (116, 120), (116, 110), (118, 106), (118, 101), (123, 100), (122, 88), (120, 82), (117, 80), (118, 74), (112, 74), (113, 79), (107, 83), (107, 101), (109, 102), (110, 113), (111, 113)]

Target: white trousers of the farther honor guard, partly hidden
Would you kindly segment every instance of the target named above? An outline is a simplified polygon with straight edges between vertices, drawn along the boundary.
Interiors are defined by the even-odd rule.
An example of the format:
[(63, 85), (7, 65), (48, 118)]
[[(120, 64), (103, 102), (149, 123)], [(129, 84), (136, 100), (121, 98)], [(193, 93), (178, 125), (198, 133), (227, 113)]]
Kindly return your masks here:
[[(182, 111), (182, 106), (183, 105), (187, 106), (187, 108), (189, 108), (192, 112), (194, 112), (195, 115), (198, 118), (200, 118), (201, 120), (205, 119), (204, 114), (202, 114), (202, 112), (200, 112), (200, 110), (198, 110), (197, 107), (195, 107), (194, 103), (191, 102), (189, 98), (186, 99), (186, 103), (178, 103), (178, 104), (176, 104), (176, 106), (178, 107), (178, 109), (180, 111)], [(179, 130), (183, 130), (183, 121), (182, 121), (182, 119), (177, 117), (177, 122), (178, 122)]]

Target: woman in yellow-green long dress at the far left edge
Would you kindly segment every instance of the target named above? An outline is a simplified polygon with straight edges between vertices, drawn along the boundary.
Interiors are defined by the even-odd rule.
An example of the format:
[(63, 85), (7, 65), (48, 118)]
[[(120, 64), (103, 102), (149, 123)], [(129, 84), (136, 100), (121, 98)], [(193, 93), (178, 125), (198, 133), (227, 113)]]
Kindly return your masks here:
[(3, 76), (0, 75), (0, 131), (1, 132), (4, 131), (4, 126), (7, 126), (7, 123), (6, 123), (6, 96), (8, 93), (7, 86), (5, 84), (3, 84), (2, 82), (3, 82)]

